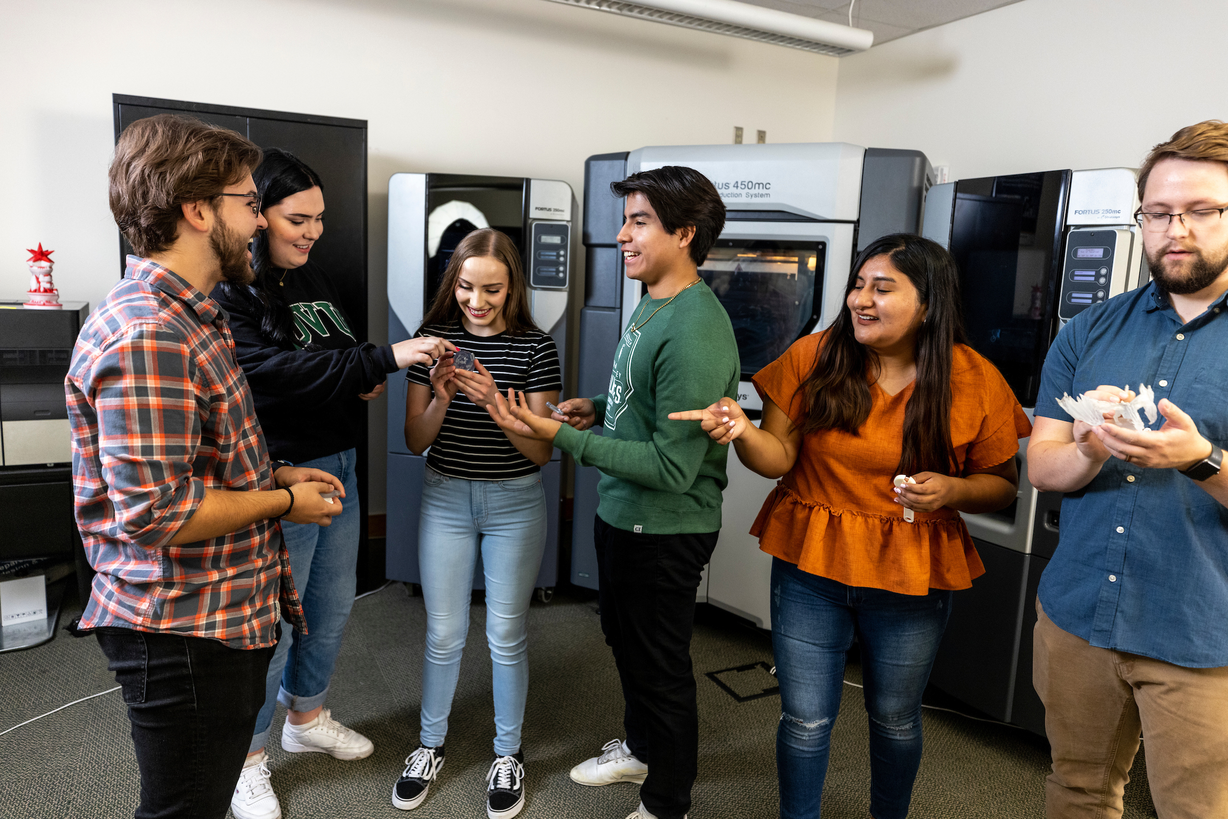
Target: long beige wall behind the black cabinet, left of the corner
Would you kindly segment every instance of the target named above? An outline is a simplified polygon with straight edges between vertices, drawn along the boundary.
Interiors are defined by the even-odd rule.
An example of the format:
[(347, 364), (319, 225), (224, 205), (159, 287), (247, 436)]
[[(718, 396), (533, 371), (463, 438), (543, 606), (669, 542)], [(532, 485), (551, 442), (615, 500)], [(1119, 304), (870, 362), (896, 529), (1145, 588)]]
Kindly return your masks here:
[(7, 0), (4, 17), (0, 297), (25, 291), (36, 242), (66, 300), (97, 305), (118, 278), (113, 92), (368, 120), (375, 341), (394, 172), (558, 178), (580, 195), (592, 153), (727, 142), (734, 125), (831, 138), (834, 58), (543, 0)]

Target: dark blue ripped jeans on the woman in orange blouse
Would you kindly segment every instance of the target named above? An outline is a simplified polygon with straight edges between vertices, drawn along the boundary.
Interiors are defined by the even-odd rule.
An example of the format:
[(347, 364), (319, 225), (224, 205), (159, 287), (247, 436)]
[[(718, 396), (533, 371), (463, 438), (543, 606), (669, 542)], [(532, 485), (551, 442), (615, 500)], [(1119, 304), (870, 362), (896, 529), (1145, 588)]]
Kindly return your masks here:
[(921, 693), (952, 592), (845, 586), (772, 557), (771, 640), (780, 680), (776, 771), (781, 819), (818, 819), (845, 652), (861, 642), (869, 716), (869, 812), (904, 819), (921, 765)]

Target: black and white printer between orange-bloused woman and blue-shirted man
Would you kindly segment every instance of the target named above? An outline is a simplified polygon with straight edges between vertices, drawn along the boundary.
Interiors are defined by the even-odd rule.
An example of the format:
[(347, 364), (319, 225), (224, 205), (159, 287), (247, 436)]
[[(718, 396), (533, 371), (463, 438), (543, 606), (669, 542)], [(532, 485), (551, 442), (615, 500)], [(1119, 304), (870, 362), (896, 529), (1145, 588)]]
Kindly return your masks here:
[[(981, 177), (930, 190), (923, 232), (955, 257), (968, 343), (993, 362), (1029, 417), (1061, 325), (1147, 284), (1137, 206), (1130, 168)], [(1032, 626), (1040, 575), (1057, 546), (1062, 494), (1028, 483), (1027, 448), (1020, 441), (1016, 501), (964, 514), (985, 575), (955, 592), (930, 681), (1044, 734)]]

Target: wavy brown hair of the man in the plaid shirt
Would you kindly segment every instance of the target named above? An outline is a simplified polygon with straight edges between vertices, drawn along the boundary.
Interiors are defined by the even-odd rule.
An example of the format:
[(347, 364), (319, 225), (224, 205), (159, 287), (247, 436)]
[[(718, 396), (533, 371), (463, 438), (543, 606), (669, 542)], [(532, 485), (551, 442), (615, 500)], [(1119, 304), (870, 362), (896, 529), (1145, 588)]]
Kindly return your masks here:
[(181, 205), (215, 204), (260, 158), (255, 142), (221, 125), (179, 114), (138, 119), (115, 142), (111, 212), (138, 254), (160, 253), (174, 244)]

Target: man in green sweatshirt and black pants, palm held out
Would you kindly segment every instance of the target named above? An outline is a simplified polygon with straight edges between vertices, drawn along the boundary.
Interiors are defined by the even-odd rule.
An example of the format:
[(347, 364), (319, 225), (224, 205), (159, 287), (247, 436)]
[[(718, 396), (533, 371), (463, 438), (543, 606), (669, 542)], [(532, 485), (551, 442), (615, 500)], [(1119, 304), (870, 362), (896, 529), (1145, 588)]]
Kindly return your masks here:
[[(699, 745), (695, 589), (721, 529), (728, 449), (699, 424), (667, 416), (737, 395), (733, 327), (698, 274), (725, 226), (725, 205), (691, 168), (642, 171), (610, 187), (626, 198), (618, 235), (626, 275), (648, 292), (614, 352), (609, 390), (564, 402), (549, 419), (510, 395), (491, 415), (602, 473), (593, 522), (602, 631), (623, 683), (626, 740), (608, 743), (571, 778), (642, 782), (628, 819), (683, 819)], [(585, 431), (593, 425), (605, 433)]]

